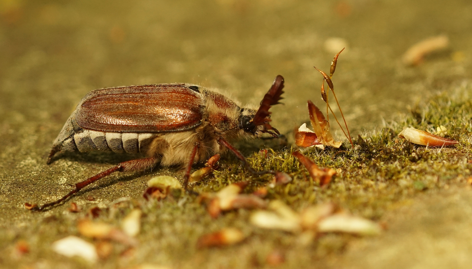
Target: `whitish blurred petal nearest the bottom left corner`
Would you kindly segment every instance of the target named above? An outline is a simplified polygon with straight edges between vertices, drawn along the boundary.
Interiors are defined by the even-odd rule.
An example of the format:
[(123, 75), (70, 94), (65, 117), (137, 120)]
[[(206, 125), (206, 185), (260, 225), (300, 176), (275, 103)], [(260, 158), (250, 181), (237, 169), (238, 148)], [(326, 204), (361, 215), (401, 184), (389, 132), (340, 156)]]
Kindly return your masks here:
[(89, 262), (96, 262), (98, 259), (95, 246), (77, 236), (67, 236), (52, 243), (52, 249), (67, 257), (79, 256)]

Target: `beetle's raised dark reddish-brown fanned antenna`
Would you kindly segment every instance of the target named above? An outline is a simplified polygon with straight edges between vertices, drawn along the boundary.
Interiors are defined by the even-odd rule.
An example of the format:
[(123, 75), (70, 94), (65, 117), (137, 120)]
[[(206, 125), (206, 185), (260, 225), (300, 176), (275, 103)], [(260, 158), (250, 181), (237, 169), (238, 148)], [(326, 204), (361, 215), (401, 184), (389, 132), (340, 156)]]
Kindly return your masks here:
[(259, 107), (253, 118), (254, 125), (265, 124), (267, 130), (274, 130), (274, 128), (272, 128), (272, 126), (270, 126), (269, 124), (270, 119), (268, 119), (267, 117), (270, 115), (270, 107), (273, 105), (280, 104), (278, 102), (280, 99), (282, 99), (280, 95), (284, 93), (282, 89), (284, 89), (284, 77), (278, 75), (272, 83), (272, 87), (270, 87), (270, 90), (264, 95), (264, 98), (262, 98), (261, 106)]

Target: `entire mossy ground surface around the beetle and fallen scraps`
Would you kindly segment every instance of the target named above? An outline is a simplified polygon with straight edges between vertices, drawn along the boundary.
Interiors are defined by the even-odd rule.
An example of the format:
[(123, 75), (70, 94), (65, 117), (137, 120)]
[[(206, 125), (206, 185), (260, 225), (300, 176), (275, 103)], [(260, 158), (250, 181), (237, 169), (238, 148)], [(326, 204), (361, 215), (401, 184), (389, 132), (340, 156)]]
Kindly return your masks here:
[[(286, 255), (281, 267), (287, 268), (365, 268), (366, 257), (382, 255), (390, 256), (371, 268), (406, 268), (412, 261), (418, 261), (415, 268), (445, 268), (459, 260), (469, 268), (472, 195), (464, 186), (471, 169), (471, 10), (470, 1), (461, 0), (0, 0), (0, 267), (127, 268), (146, 262), (173, 268), (264, 268), (267, 254), (278, 249)], [(449, 49), (418, 66), (400, 63), (410, 46), (440, 33), (449, 36)], [(139, 157), (73, 153), (45, 164), (51, 141), (90, 90), (188, 82), (226, 90), (242, 104), (258, 104), (281, 74), (285, 105), (271, 108), (272, 123), (290, 137), (308, 120), (307, 99), (323, 105), (321, 77), (312, 66), (328, 70), (337, 51), (325, 42), (333, 37), (347, 43), (334, 77), (337, 97), (351, 133), (355, 139), (361, 133), (365, 144), (356, 142), (361, 144), (356, 150), (348, 144), (313, 149), (307, 155), (342, 173), (320, 188), (291, 157), (290, 139), (288, 144), (275, 139), (237, 146), (257, 169), (293, 176), (292, 183), (270, 189), (267, 199), (281, 199), (296, 211), (333, 201), (386, 222), (389, 229), (382, 235), (329, 234), (303, 245), (299, 235), (253, 227), (247, 210), (212, 220), (195, 196), (176, 194), (151, 203), (141, 198), (152, 177), (180, 178), (177, 167), (112, 174), (50, 211), (25, 209), (25, 202), (57, 199), (70, 190), (68, 183)], [(444, 94), (430, 99), (436, 91)], [(407, 106), (428, 100), (408, 114)], [(398, 112), (408, 115), (382, 124)], [(408, 125), (430, 131), (444, 125), (460, 144), (443, 149), (408, 144), (396, 137)], [(258, 153), (261, 148), (269, 148), (268, 158)], [(271, 180), (253, 177), (231, 155), (220, 164), (213, 177), (194, 186), (196, 191), (248, 180), (245, 192), (251, 192)], [(129, 200), (115, 206), (121, 197)], [(70, 202), (83, 211), (68, 212)], [(77, 220), (94, 206), (102, 208), (96, 221), (114, 225), (131, 208), (142, 208), (140, 246), (133, 255), (121, 256), (124, 246), (116, 244), (108, 259), (89, 265), (51, 251), (51, 242), (78, 234)], [(427, 217), (416, 218), (420, 215)], [(242, 229), (244, 242), (195, 248), (198, 236), (227, 226)], [(30, 253), (12, 256), (22, 239)], [(362, 242), (366, 248), (359, 247)], [(416, 245), (423, 248), (411, 251)]]

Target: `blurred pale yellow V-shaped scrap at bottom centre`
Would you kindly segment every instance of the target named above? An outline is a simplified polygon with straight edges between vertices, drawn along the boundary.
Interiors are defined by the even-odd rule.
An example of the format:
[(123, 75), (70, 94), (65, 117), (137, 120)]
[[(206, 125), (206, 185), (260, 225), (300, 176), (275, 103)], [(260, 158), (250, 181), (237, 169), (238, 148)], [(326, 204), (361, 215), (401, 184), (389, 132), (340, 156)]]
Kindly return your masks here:
[(250, 221), (260, 228), (279, 229), (284, 231), (298, 231), (300, 229), (300, 217), (290, 207), (281, 201), (270, 202), (269, 209), (259, 210), (251, 214)]

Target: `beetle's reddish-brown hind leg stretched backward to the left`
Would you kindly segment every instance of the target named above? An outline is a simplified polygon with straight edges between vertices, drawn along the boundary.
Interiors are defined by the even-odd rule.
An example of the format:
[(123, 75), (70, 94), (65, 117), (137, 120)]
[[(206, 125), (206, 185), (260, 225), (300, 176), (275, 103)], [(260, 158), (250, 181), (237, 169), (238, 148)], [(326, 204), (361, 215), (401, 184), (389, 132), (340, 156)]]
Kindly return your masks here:
[(48, 203), (48, 204), (43, 204), (42, 206), (34, 206), (31, 208), (31, 210), (44, 210), (47, 207), (59, 204), (60, 202), (66, 200), (70, 196), (76, 194), (79, 190), (82, 188), (92, 184), (93, 182), (97, 181), (98, 179), (104, 178), (108, 175), (110, 175), (113, 172), (119, 171), (119, 172), (130, 172), (130, 171), (142, 171), (146, 170), (148, 168), (153, 168), (157, 163), (157, 158), (156, 157), (151, 157), (151, 158), (145, 158), (145, 159), (139, 159), (139, 160), (131, 160), (131, 161), (126, 161), (123, 163), (118, 163), (117, 166), (114, 166), (108, 170), (105, 170), (103, 172), (100, 172), (93, 177), (90, 177), (88, 179), (85, 179), (84, 181), (81, 181), (79, 183), (76, 183), (74, 186), (74, 189), (71, 190), (68, 194), (60, 198), (59, 200), (56, 200), (54, 202)]

